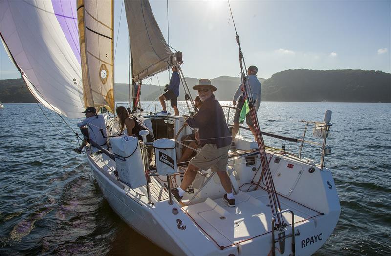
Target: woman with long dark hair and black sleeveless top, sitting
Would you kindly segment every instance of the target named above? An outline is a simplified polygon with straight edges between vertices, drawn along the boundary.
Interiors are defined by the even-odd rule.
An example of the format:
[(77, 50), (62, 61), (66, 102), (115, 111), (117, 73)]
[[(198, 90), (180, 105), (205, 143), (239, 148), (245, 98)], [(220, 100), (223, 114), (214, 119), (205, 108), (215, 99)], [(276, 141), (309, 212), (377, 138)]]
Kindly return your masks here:
[[(138, 119), (134, 115), (129, 115), (128, 110), (124, 106), (117, 107), (115, 112), (117, 113), (117, 116), (119, 118), (119, 125), (120, 125), (119, 134), (126, 131), (126, 135), (137, 137), (140, 141), (143, 141), (143, 137), (139, 134), (139, 132), (142, 130), (148, 130), (149, 134), (147, 135), (147, 142), (153, 142), (155, 140), (152, 131), (149, 128), (147, 128), (144, 125), (144, 123), (141, 122), (140, 119)], [(148, 150), (148, 158), (151, 162), (153, 146), (152, 145), (147, 146), (147, 150)]]

